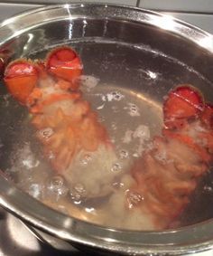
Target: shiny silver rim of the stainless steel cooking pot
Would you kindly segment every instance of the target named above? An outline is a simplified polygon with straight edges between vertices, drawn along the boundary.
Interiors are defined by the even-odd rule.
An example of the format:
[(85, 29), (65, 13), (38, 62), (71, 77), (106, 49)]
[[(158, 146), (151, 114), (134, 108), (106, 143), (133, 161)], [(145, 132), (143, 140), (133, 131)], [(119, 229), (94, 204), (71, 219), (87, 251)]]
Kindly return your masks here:
[[(106, 19), (124, 19), (130, 22), (151, 24), (162, 30), (176, 33), (190, 42), (196, 43), (197, 46), (203, 47), (204, 50), (213, 52), (213, 35), (168, 15), (125, 5), (90, 3), (45, 6), (9, 18), (0, 24), (0, 34), (2, 33), (0, 46), (32, 27), (60, 20), (60, 14), (66, 13), (66, 10), (68, 13), (69, 10), (74, 10), (77, 13), (71, 17), (68, 16), (72, 19), (79, 18), (82, 12), (87, 12), (87, 8), (93, 9), (96, 18), (103, 19), (104, 13), (107, 14)], [(51, 13), (51, 11), (54, 13), (55, 10), (60, 11), (57, 17), (45, 17), (45, 13)], [(98, 14), (100, 10), (103, 13)], [(96, 13), (96, 11), (98, 12)], [(36, 19), (33, 20), (33, 17)], [(41, 22), (36, 22), (38, 20)], [(68, 242), (76, 242), (101, 250), (124, 254), (170, 253), (171, 255), (181, 255), (213, 249), (213, 221), (211, 220), (161, 232), (122, 231), (106, 228), (52, 210), (15, 187), (3, 172), (0, 172), (0, 205), (24, 222), (30, 223), (42, 231), (49, 232)]]

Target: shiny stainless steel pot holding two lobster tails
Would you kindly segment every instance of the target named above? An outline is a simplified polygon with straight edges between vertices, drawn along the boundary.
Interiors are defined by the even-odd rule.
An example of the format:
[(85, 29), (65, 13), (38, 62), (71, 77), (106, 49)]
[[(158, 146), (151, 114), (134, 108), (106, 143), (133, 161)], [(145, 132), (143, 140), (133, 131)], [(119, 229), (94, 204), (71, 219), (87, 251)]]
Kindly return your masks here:
[[(87, 73), (143, 93), (157, 105), (166, 91), (182, 82), (194, 84), (212, 100), (213, 36), (170, 16), (118, 5), (52, 5), (0, 24), (0, 49), (6, 49), (10, 60), (40, 57), (45, 50), (67, 43), (78, 50)], [(5, 93), (2, 87), (1, 100)], [(131, 255), (181, 255), (213, 248), (210, 207), (202, 208), (205, 218), (177, 230), (126, 232), (58, 213), (18, 189), (7, 178), (6, 168), (13, 143), (22, 132), (23, 114), (13, 102), (1, 105), (1, 140), (6, 147), (0, 156), (0, 204), (41, 230), (41, 235), (51, 234), (67, 249), (71, 244)]]

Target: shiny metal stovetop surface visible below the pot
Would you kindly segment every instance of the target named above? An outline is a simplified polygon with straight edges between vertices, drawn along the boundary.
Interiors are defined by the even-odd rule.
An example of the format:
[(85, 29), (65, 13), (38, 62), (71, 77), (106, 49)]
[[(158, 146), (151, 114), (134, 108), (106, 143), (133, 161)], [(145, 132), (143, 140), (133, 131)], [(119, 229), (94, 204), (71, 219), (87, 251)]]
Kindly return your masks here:
[[(21, 222), (18, 218), (14, 217), (12, 214), (7, 213), (3, 208), (0, 208), (0, 231), (1, 233), (4, 233), (4, 237), (1, 237), (0, 239), (1, 256), (88, 255), (88, 251), (80, 251), (75, 249), (74, 247), (69, 247), (69, 251), (66, 251), (66, 247), (61, 248), (61, 246), (64, 245), (61, 242), (61, 240), (54, 241), (55, 238), (53, 236), (48, 235), (46, 232), (41, 233), (41, 241), (40, 238), (38, 239), (37, 236), (34, 235), (34, 231), (31, 232), (23, 222)], [(101, 256), (101, 254), (99, 254), (98, 252), (93, 252), (91, 253), (91, 255)], [(212, 256), (212, 251), (192, 253), (191, 255)]]

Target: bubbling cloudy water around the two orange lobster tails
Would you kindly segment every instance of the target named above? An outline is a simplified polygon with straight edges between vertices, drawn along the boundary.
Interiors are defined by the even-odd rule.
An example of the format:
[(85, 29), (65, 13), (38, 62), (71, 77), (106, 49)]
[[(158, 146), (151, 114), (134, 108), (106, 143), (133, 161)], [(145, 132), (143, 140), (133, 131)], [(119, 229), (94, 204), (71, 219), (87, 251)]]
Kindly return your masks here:
[[(131, 165), (141, 156), (145, 148), (150, 146), (154, 135), (162, 129), (162, 99), (173, 84), (180, 82), (202, 82), (208, 87), (196, 71), (188, 70), (180, 62), (165, 58), (158, 52), (147, 49), (135, 50), (132, 47), (116, 43), (73, 43), (84, 63), (84, 75), (81, 78), (81, 90), (92, 109), (97, 111), (99, 121), (107, 128), (111, 141), (115, 145), (119, 162), (112, 166), (113, 171), (123, 171), (127, 161), (130, 168), (114, 182), (115, 191), (131, 184), (129, 175)], [(136, 52), (136, 53), (135, 53)], [(32, 59), (42, 58), (46, 52), (32, 52)], [(135, 54), (138, 55), (137, 58)], [(139, 60), (139, 61), (138, 61)], [(140, 61), (140, 60), (143, 60)], [(158, 62), (162, 62), (162, 66)], [(166, 78), (162, 70), (170, 67), (173, 71)], [(177, 75), (179, 73), (179, 75)], [(181, 75), (180, 75), (181, 73)], [(170, 87), (169, 87), (170, 86)], [(97, 222), (97, 214), (103, 214), (105, 205), (123, 204), (119, 195), (111, 194), (99, 198), (87, 199), (87, 191), (80, 184), (69, 187), (61, 175), (57, 175), (42, 156), (42, 146), (35, 138), (35, 131), (30, 124), (27, 109), (14, 102), (1, 88), (3, 95), (0, 114), (4, 117), (1, 123), (1, 168), (9, 175), (16, 185), (38, 200), (57, 208), (63, 213), (80, 217), (88, 222)], [(153, 93), (154, 91), (154, 93)], [(13, 119), (11, 119), (13, 113)], [(89, 161), (89, 156), (84, 159)], [(211, 203), (212, 184), (200, 185), (199, 192), (192, 198), (192, 204), (183, 214), (182, 224), (199, 222), (211, 217), (209, 206), (206, 214), (199, 214), (197, 202)], [(208, 187), (208, 189), (207, 189)], [(205, 195), (205, 200), (203, 200)], [(208, 198), (208, 199), (207, 199)], [(129, 203), (140, 201), (139, 194), (130, 194)], [(194, 202), (196, 203), (193, 203)], [(131, 206), (131, 205), (130, 205)], [(119, 208), (119, 207), (118, 207)], [(197, 207), (198, 208), (198, 207)], [(103, 209), (103, 211), (102, 211)], [(122, 206), (120, 209), (123, 209)], [(124, 209), (123, 209), (124, 210)], [(96, 212), (97, 211), (97, 212)], [(195, 214), (194, 212), (197, 211)], [(192, 213), (193, 212), (193, 213)], [(108, 216), (106, 225), (124, 228), (125, 213), (113, 209), (113, 216)], [(88, 217), (90, 216), (90, 217)], [(112, 219), (116, 221), (113, 222)], [(134, 219), (134, 216), (132, 217)], [(120, 223), (118, 220), (122, 220)], [(140, 228), (134, 223), (127, 228)]]

